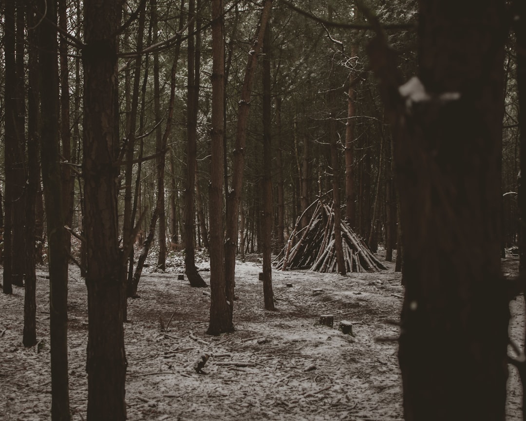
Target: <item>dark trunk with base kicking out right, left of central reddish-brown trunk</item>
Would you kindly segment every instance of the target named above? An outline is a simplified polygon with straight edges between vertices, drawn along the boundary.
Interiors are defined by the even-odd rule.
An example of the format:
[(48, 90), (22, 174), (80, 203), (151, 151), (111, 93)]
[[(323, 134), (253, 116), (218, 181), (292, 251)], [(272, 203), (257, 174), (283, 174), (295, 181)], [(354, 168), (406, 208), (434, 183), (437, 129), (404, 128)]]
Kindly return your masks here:
[[(194, 19), (195, 0), (188, 3), (189, 19)], [(194, 32), (193, 21), (188, 32)], [(187, 152), (186, 152), (186, 189), (185, 189), (185, 273), (193, 287), (207, 286), (195, 266), (195, 173), (197, 155), (197, 92), (198, 78), (195, 75), (195, 39), (188, 36), (188, 91), (187, 91)]]

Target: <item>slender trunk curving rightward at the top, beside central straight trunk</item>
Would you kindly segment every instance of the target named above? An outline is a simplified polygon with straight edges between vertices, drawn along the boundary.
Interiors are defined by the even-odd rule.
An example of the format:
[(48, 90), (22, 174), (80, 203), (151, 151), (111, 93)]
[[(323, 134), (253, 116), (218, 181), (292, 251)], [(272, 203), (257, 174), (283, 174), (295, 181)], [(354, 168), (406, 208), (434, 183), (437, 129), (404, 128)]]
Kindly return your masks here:
[(233, 172), (232, 186), (228, 193), (227, 199), (227, 227), (225, 240), (225, 277), (226, 277), (226, 294), (230, 302), (230, 319), (234, 311), (234, 288), (236, 275), (236, 249), (239, 236), (239, 202), (241, 200), (241, 191), (243, 187), (243, 169), (245, 166), (245, 144), (247, 137), (248, 113), (250, 109), (250, 93), (252, 91), (252, 81), (256, 72), (259, 52), (263, 43), (263, 35), (267, 26), (271, 0), (265, 0), (259, 27), (257, 29), (255, 42), (249, 52), (243, 85), (241, 87), (241, 99), (239, 101), (236, 129), (236, 143), (234, 156), (232, 157)]

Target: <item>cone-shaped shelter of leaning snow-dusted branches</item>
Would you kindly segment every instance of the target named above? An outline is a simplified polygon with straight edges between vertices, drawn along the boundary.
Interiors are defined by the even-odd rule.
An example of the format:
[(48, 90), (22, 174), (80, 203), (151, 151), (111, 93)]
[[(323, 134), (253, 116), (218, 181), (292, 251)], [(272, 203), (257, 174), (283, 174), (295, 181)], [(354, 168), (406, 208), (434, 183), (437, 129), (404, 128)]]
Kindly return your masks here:
[[(299, 227), (301, 217), (298, 218), (286, 246), (277, 257), (277, 269), (309, 268), (316, 272), (336, 272), (332, 206), (318, 200), (305, 212), (314, 205), (315, 211), (306, 227)], [(347, 272), (379, 272), (386, 269), (345, 220), (342, 220), (340, 228)]]

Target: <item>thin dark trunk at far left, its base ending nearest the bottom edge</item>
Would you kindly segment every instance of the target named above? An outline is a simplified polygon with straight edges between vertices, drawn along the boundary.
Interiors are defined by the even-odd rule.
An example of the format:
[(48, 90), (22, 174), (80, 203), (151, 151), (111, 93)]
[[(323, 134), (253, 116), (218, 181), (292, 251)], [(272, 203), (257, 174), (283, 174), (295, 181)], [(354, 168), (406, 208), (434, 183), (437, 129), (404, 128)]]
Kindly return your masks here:
[(36, 345), (36, 273), (35, 273), (35, 202), (37, 186), (40, 184), (40, 164), (38, 162), (38, 48), (35, 29), (37, 19), (33, 5), (26, 6), (28, 27), (28, 89), (27, 89), (27, 202), (26, 202), (26, 288), (24, 294), (24, 333), (25, 347)]

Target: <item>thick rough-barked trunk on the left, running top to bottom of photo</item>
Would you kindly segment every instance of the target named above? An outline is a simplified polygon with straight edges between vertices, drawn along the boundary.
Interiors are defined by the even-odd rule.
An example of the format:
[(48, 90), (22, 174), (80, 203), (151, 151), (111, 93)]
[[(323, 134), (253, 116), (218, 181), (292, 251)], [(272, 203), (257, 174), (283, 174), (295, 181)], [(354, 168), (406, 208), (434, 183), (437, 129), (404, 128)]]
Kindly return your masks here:
[(122, 2), (84, 3), (88, 421), (126, 419), (123, 254), (118, 244), (117, 29)]

